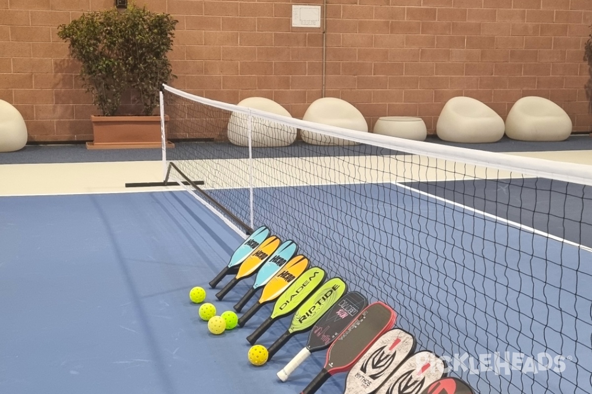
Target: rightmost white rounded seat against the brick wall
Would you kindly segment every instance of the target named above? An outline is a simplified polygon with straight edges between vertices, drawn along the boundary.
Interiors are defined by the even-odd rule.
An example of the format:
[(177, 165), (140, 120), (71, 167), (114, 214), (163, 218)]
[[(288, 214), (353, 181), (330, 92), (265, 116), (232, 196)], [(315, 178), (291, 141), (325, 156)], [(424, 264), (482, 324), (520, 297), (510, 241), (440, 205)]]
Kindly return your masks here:
[(506, 118), (506, 135), (521, 141), (563, 141), (572, 131), (570, 116), (551, 100), (529, 96), (518, 100)]

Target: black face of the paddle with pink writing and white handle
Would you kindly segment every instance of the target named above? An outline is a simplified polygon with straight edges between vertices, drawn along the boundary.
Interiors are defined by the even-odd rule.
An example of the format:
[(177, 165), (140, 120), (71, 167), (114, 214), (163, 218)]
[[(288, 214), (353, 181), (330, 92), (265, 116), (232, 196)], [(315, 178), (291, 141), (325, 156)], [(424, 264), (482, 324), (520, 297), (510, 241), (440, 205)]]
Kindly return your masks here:
[(368, 306), (368, 298), (358, 291), (350, 291), (314, 324), (308, 336), (308, 351), (323, 350), (333, 343), (361, 310)]

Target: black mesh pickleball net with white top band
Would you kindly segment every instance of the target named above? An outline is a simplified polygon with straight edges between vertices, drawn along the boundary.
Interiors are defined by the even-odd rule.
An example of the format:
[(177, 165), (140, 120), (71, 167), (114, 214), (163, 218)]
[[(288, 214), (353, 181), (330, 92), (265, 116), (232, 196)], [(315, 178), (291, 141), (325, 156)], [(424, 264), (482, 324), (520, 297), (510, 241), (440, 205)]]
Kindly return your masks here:
[(188, 190), (237, 231), (265, 224), (391, 305), (449, 376), (482, 393), (592, 392), (590, 167), (349, 131), (169, 86), (162, 99), (182, 141), (165, 152), (170, 179), (203, 181)]

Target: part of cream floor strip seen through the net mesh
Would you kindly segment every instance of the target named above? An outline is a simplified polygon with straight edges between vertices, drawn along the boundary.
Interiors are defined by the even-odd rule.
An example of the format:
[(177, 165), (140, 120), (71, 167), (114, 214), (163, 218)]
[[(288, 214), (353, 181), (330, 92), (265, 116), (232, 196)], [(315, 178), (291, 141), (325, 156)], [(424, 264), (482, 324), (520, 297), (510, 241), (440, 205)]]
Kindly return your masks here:
[[(210, 187), (213, 189), (249, 187), (247, 174), (243, 170), (249, 166), (247, 159), (181, 160), (176, 164), (188, 177), (200, 178), (207, 185), (213, 185)], [(434, 161), (419, 155), (267, 158), (255, 159), (253, 164), (254, 187), (525, 177), (519, 172), (497, 171), (473, 165), (463, 165), (459, 171), (456, 162)], [(295, 168), (298, 170), (294, 171)], [(220, 173), (227, 175), (237, 171), (236, 176), (218, 176)]]

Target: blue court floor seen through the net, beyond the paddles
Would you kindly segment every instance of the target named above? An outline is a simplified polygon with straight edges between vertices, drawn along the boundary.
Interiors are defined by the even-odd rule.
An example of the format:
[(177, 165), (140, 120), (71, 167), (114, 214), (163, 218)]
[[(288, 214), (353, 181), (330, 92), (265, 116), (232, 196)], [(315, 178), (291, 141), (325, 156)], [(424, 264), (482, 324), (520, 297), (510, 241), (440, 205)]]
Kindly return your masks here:
[[(527, 178), (255, 188), (255, 226), (394, 307), (419, 349), (468, 354), (477, 369), (480, 355), (492, 366), (496, 353), (496, 365), (536, 360), (536, 372), (450, 373), (476, 392), (589, 393), (592, 188), (573, 187)], [(244, 189), (210, 193), (249, 200)], [(249, 217), (246, 203), (234, 211)], [(565, 370), (545, 369), (540, 354), (565, 357)]]

